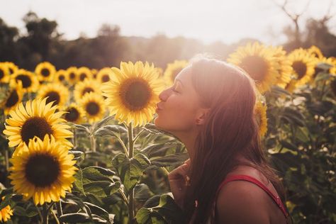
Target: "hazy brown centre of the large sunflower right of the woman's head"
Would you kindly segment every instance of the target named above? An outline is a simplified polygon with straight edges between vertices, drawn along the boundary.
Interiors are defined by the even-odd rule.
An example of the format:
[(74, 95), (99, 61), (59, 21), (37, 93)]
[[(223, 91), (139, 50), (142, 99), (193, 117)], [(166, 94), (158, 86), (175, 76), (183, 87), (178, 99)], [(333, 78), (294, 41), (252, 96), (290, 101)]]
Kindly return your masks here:
[(240, 67), (242, 67), (242, 69), (257, 82), (262, 82), (264, 80), (269, 69), (267, 62), (257, 55), (245, 57), (242, 60)]

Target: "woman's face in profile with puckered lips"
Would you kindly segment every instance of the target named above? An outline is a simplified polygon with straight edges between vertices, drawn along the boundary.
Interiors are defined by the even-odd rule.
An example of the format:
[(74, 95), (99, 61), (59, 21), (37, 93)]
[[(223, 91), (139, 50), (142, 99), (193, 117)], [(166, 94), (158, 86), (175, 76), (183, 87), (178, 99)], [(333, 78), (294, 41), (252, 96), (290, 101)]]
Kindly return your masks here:
[(170, 133), (188, 132), (196, 127), (201, 113), (198, 95), (191, 83), (191, 68), (179, 72), (173, 86), (159, 94), (155, 125)]

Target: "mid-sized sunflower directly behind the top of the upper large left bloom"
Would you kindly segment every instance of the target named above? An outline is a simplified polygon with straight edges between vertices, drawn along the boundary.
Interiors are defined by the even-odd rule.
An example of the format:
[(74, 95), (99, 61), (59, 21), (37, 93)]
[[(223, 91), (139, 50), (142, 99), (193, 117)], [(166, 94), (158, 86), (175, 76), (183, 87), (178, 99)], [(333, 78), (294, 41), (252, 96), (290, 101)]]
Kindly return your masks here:
[(67, 103), (69, 98), (69, 91), (67, 87), (62, 84), (49, 83), (43, 85), (36, 96), (37, 99), (43, 99), (47, 97), (46, 103), (52, 103), (52, 106), (63, 106)]

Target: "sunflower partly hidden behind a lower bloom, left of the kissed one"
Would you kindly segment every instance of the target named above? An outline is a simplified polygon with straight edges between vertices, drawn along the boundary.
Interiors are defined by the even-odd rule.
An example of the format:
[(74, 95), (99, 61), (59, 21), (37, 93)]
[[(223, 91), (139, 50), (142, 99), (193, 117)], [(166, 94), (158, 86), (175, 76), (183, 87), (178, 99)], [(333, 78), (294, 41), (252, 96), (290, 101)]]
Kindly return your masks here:
[(78, 102), (81, 101), (85, 94), (95, 92), (101, 94), (100, 84), (95, 79), (85, 79), (74, 86), (74, 99)]

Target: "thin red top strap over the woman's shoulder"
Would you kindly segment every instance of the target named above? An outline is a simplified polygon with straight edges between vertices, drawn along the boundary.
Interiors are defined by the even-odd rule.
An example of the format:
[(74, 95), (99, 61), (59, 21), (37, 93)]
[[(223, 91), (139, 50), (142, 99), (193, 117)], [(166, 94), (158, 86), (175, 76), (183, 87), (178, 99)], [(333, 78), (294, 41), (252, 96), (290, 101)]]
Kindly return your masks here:
[(271, 193), (271, 191), (269, 191), (269, 189), (264, 186), (264, 184), (262, 184), (262, 182), (258, 181), (257, 179), (247, 176), (247, 175), (230, 175), (228, 177), (225, 178), (225, 180), (220, 184), (220, 186), (218, 187), (218, 190), (216, 192), (216, 198), (217, 195), (220, 191), (220, 189), (227, 184), (230, 181), (249, 181), (253, 184), (256, 184), (257, 186), (259, 186), (260, 188), (262, 188), (264, 191), (266, 191), (266, 193), (271, 196), (271, 198), (273, 199), (273, 201), (275, 201), (275, 203), (279, 206), (279, 208), (281, 209), (282, 213), (284, 213), (285, 217), (288, 217), (288, 213), (284, 207), (284, 204), (281, 202), (281, 199), (279, 198), (279, 196), (275, 196), (273, 193)]

